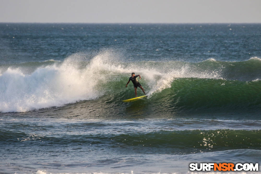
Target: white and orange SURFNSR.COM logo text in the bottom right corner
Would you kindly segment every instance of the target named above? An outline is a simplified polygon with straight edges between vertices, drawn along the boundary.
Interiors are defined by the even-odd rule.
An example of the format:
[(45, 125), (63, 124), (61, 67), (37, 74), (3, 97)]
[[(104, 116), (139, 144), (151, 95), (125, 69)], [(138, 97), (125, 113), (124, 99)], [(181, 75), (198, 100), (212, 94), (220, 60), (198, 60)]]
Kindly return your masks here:
[(233, 164), (233, 163), (191, 163), (189, 164), (189, 170), (194, 171), (258, 171), (258, 163), (245, 163), (245, 164)]

